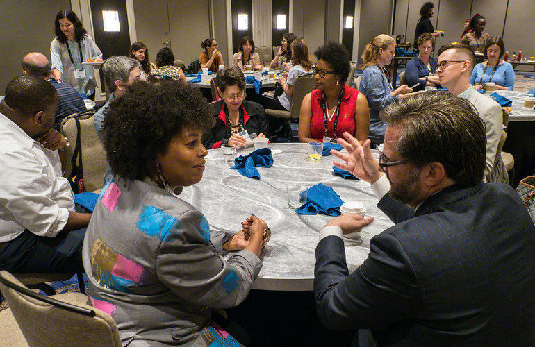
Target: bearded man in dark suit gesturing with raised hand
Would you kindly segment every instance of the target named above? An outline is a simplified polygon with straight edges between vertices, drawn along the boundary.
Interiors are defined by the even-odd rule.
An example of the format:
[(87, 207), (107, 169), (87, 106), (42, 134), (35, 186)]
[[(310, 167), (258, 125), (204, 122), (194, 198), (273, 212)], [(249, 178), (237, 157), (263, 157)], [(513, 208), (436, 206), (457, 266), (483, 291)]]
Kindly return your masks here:
[(345, 133), (349, 155), (336, 153), (343, 162), (334, 164), (370, 183), (395, 225), (372, 237), (352, 273), (341, 237), (372, 218), (346, 214), (320, 230), (320, 320), (370, 328), (377, 346), (533, 346), (535, 226), (514, 189), (482, 182), (485, 131), (472, 105), (425, 92), (381, 118), (379, 162), (369, 140)]

